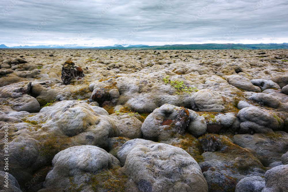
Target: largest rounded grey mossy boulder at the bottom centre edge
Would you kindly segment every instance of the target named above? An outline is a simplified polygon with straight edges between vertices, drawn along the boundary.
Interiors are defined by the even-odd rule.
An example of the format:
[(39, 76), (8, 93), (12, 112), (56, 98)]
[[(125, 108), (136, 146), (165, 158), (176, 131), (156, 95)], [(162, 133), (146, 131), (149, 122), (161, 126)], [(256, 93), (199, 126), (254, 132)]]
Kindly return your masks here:
[(134, 139), (122, 145), (117, 157), (140, 191), (208, 191), (197, 162), (178, 147)]

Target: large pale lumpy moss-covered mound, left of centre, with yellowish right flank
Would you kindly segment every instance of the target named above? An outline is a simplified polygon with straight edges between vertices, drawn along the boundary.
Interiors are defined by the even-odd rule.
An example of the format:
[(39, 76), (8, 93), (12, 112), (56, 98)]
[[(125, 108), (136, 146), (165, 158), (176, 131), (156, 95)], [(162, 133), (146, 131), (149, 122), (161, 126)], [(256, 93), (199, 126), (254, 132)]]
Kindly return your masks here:
[(101, 147), (106, 145), (108, 137), (116, 134), (115, 122), (106, 114), (95, 113), (83, 101), (58, 102), (46, 111), (43, 110), (43, 113), (29, 117), (27, 120), (46, 122), (42, 130), (57, 130), (63, 136), (75, 136), (79, 143), (90, 142)]

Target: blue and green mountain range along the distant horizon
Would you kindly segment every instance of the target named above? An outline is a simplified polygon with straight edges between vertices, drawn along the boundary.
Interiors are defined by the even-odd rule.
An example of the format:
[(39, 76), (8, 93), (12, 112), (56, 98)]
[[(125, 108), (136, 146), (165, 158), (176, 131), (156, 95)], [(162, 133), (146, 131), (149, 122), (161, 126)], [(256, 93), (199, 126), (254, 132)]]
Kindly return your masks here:
[(10, 49), (119, 49), (119, 50), (223, 50), (223, 49), (288, 49), (288, 43), (260, 43), (260, 44), (217, 44), (217, 43), (206, 43), (206, 44), (189, 44), (189, 45), (163, 45), (163, 46), (149, 46), (149, 45), (118, 45), (105, 46), (105, 47), (86, 47), (79, 45), (35, 45), (35, 46), (16, 46), (7, 47), (6, 45), (0, 45), (0, 48), (10, 48)]

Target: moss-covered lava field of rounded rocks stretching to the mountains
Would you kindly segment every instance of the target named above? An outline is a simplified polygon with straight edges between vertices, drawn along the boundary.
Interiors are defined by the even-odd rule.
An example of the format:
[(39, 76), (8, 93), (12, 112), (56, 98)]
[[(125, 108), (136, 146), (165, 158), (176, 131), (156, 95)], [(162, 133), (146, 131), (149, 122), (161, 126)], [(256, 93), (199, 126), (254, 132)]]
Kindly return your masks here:
[(0, 67), (0, 191), (288, 191), (288, 50), (0, 50)]

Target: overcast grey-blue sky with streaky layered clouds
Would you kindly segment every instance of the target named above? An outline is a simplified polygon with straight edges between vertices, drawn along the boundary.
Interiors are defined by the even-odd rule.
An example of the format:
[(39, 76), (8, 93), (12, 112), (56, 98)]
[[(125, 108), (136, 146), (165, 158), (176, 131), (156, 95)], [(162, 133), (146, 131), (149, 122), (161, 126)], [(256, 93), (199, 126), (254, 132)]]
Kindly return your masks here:
[(0, 44), (288, 43), (287, 0), (2, 0)]

